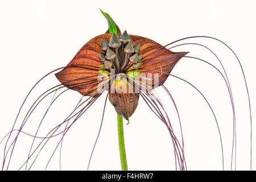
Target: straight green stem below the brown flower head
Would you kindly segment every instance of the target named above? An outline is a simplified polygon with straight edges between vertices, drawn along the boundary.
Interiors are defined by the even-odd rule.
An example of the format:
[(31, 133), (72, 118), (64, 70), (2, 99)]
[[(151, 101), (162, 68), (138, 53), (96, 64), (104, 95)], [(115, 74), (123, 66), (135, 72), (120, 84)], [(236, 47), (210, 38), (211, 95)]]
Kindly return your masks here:
[(118, 144), (122, 171), (128, 171), (125, 154), (125, 137), (123, 135), (123, 117), (117, 114)]

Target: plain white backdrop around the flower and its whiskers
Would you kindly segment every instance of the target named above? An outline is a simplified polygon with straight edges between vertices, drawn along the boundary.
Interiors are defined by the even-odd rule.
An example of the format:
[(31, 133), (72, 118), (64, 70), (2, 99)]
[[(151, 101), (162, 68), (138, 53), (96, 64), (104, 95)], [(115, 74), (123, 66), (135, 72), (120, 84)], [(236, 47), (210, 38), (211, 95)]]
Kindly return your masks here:
[[(141, 35), (162, 45), (187, 36), (207, 35), (218, 38), (234, 49), (244, 68), (251, 96), (253, 114), (253, 169), (256, 168), (255, 145), (255, 1), (0, 1), (0, 138), (16, 117), (26, 94), (40, 77), (64, 67), (88, 40), (103, 34), (107, 23), (100, 10), (109, 13), (122, 31)], [(250, 169), (250, 117), (242, 72), (234, 55), (222, 44), (209, 39), (190, 39), (182, 43), (203, 43), (216, 52), (224, 64), (237, 115), (237, 169)], [(190, 56), (208, 60), (220, 68), (214, 56), (197, 46), (183, 46), (173, 51), (189, 51)], [(229, 170), (232, 153), (233, 118), (229, 95), (221, 76), (205, 63), (181, 59), (172, 71), (197, 86), (208, 98), (217, 115), (224, 146), (225, 169)], [(24, 107), (28, 110), (40, 93), (59, 82), (52, 75), (32, 93)], [(221, 170), (221, 147), (213, 115), (195, 89), (169, 77), (166, 86), (172, 93), (181, 116), (185, 157), (189, 170)], [(179, 136), (177, 115), (163, 89), (156, 92)], [(69, 90), (49, 111), (42, 133), (61, 122), (80, 99)], [(68, 131), (63, 141), (61, 169), (85, 170), (100, 127), (105, 95)], [(39, 106), (24, 131), (35, 133), (49, 100)], [(91, 170), (119, 170), (117, 123), (114, 107), (107, 103), (100, 138), (94, 151)], [(22, 121), (20, 118), (19, 121)], [(173, 170), (174, 154), (166, 127), (141, 99), (130, 124), (125, 125), (126, 153), (131, 170)], [(20, 135), (10, 169), (17, 169), (27, 156), (31, 137)], [(44, 169), (56, 143), (48, 143), (35, 166)], [(3, 144), (0, 146), (0, 159)], [(59, 169), (59, 148), (47, 169)]]

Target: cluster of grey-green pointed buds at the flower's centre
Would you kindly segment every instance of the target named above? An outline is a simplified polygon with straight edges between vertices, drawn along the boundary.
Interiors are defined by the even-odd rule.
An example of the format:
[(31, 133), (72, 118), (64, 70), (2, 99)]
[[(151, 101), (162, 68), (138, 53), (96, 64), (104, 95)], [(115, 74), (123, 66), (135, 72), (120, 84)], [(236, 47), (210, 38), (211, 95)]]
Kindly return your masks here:
[(138, 69), (142, 66), (139, 63), (142, 55), (139, 55), (140, 44), (133, 46), (127, 31), (118, 38), (113, 34), (109, 42), (102, 39), (101, 51), (98, 58), (102, 61), (99, 65), (100, 73), (108, 74), (110, 69), (114, 69), (115, 73), (125, 73), (129, 77), (139, 75)]

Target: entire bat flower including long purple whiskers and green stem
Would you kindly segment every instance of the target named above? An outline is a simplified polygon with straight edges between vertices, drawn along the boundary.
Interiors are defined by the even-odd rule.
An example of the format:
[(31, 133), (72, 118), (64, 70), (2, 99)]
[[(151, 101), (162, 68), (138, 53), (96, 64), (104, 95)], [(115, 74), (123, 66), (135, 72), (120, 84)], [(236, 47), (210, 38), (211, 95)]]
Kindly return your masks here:
[[(100, 135), (102, 121), (104, 120), (106, 102), (108, 102), (108, 98), (109, 98), (110, 103), (114, 106), (115, 111), (117, 113), (118, 146), (119, 146), (119, 155), (120, 155), (122, 170), (128, 169), (126, 152), (125, 152), (125, 138), (123, 133), (123, 118), (125, 118), (129, 123), (129, 119), (135, 112), (140, 98), (147, 104), (147, 106), (149, 107), (148, 110), (152, 111), (156, 115), (156, 117), (158, 117), (160, 121), (162, 121), (164, 125), (166, 125), (168, 129), (168, 133), (170, 134), (170, 137), (171, 137), (171, 142), (174, 147), (173, 152), (174, 152), (175, 168), (176, 169), (179, 168), (181, 170), (187, 169), (187, 163), (185, 161), (185, 156), (184, 156), (185, 154), (184, 154), (183, 131), (181, 127), (179, 111), (176, 107), (174, 98), (172, 98), (171, 93), (164, 85), (164, 82), (167, 80), (168, 76), (173, 76), (173, 77), (179, 78), (179, 80), (187, 82), (187, 84), (195, 88), (197, 92), (199, 92), (201, 96), (204, 98), (204, 100), (207, 102), (210, 110), (212, 111), (214, 119), (216, 121), (216, 126), (218, 129), (218, 134), (220, 137), (220, 144), (221, 144), (222, 169), (224, 169), (224, 150), (222, 146), (221, 132), (220, 132), (220, 127), (218, 126), (216, 115), (214, 114), (214, 111), (212, 109), (212, 106), (210, 106), (207, 98), (203, 95), (203, 93), (200, 92), (199, 89), (196, 88), (196, 86), (192, 85), (190, 82), (184, 80), (183, 78), (177, 77), (175, 75), (171, 75), (172, 69), (182, 57), (188, 57), (191, 59), (203, 61), (204, 63), (207, 63), (210, 66), (212, 66), (212, 68), (216, 69), (216, 71), (220, 73), (222, 78), (224, 78), (224, 81), (228, 88), (230, 101), (232, 105), (232, 111), (233, 111), (233, 127), (232, 127), (232, 130), (233, 130), (232, 144), (233, 145), (232, 145), (232, 156), (231, 156), (231, 169), (232, 167), (236, 168), (236, 114), (235, 114), (236, 107), (234, 107), (232, 90), (231, 90), (230, 82), (228, 79), (228, 75), (226, 74), (226, 71), (224, 69), (224, 64), (222, 64), (220, 59), (218, 59), (216, 53), (214, 53), (210, 48), (208, 48), (207, 46), (204, 46), (203, 44), (183, 43), (183, 44), (178, 44), (176, 46), (173, 46), (174, 43), (177, 43), (185, 39), (192, 39), (192, 38), (208, 38), (208, 39), (210, 38), (214, 40), (218, 40), (218, 39), (212, 38), (209, 36), (192, 36), (188, 38), (182, 38), (182, 39), (176, 40), (175, 42), (167, 44), (166, 46), (162, 46), (159, 43), (154, 42), (154, 40), (144, 38), (143, 36), (130, 35), (130, 34), (127, 34), (127, 31), (121, 32), (121, 30), (119, 29), (117, 24), (115, 24), (113, 19), (109, 16), (109, 14), (105, 13), (104, 11), (101, 11), (101, 13), (108, 20), (108, 23), (109, 23), (108, 31), (106, 31), (105, 34), (98, 35), (95, 38), (89, 40), (89, 42), (87, 42), (79, 50), (79, 52), (77, 52), (75, 57), (73, 57), (73, 59), (70, 61), (70, 63), (68, 63), (67, 66), (54, 69), (53, 71), (47, 73), (45, 76), (40, 78), (40, 80), (38, 80), (35, 83), (35, 85), (32, 86), (31, 90), (28, 92), (26, 98), (24, 99), (24, 101), (22, 102), (22, 105), (20, 106), (18, 114), (16, 115), (15, 122), (11, 131), (4, 137), (4, 139), (6, 139), (6, 142), (5, 142), (5, 146), (3, 147), (2, 169), (6, 169), (6, 170), (9, 169), (9, 166), (10, 166), (9, 164), (11, 164), (11, 160), (14, 161), (12, 156), (14, 154), (14, 151), (16, 151), (16, 153), (18, 153), (17, 156), (19, 157), (18, 161), (24, 160), (24, 162), (20, 164), (19, 169), (30, 170), (31, 167), (34, 166), (35, 160), (37, 160), (38, 157), (40, 158), (41, 155), (39, 154), (41, 153), (42, 150), (44, 150), (44, 148), (46, 148), (45, 146), (47, 142), (53, 137), (56, 139), (53, 139), (53, 141), (52, 140), (51, 141), (56, 142), (56, 147), (53, 147), (53, 152), (51, 154), (51, 157), (49, 158), (48, 161), (46, 161), (46, 168), (48, 164), (51, 162), (52, 157), (55, 154), (57, 148), (60, 148), (58, 162), (59, 162), (59, 167), (61, 169), (61, 148), (62, 148), (63, 138), (65, 134), (71, 128), (73, 123), (76, 123), (76, 121), (81, 117), (81, 115), (84, 115), (85, 111), (88, 110), (89, 107), (92, 106), (94, 102), (99, 97), (101, 97), (102, 93), (104, 92), (106, 93), (105, 94), (106, 98), (105, 98), (104, 110), (102, 111), (101, 125), (98, 131), (97, 139)], [(218, 40), (218, 42), (221, 42), (221, 40)], [(228, 47), (224, 42), (221, 42), (221, 43), (224, 44), (226, 47)], [(216, 58), (220, 62), (223, 72), (225, 74), (222, 75), (222, 72), (213, 64), (208, 63), (208, 61), (199, 59), (197, 57), (185, 56), (188, 52), (170, 51), (171, 48), (188, 45), (188, 44), (204, 47), (205, 49), (213, 53), (213, 55), (216, 56)], [(168, 48), (168, 46), (170, 45), (172, 45), (172, 47)], [(228, 48), (234, 53), (234, 51), (230, 47)], [(235, 53), (234, 55), (236, 56)], [(238, 60), (237, 56), (236, 58)], [(240, 67), (243, 73), (241, 64), (240, 64)], [(55, 76), (60, 81), (60, 84), (58, 83), (57, 85), (47, 89), (42, 94), (39, 94), (39, 96), (36, 98), (34, 102), (28, 102), (27, 101), (28, 96), (32, 93), (32, 90), (35, 88), (35, 86), (38, 85), (39, 83), (41, 84), (44, 78), (48, 76), (52, 76), (52, 74), (54, 73), (56, 73)], [(247, 97), (249, 101), (249, 113), (250, 113), (250, 124), (251, 124), (252, 122), (251, 122), (250, 97), (249, 97), (249, 92), (247, 89), (247, 84), (246, 84), (246, 79), (244, 74), (243, 74), (243, 78), (245, 81)], [(56, 79), (55, 81), (57, 82)], [(47, 86), (48, 85), (49, 83), (47, 82)], [(176, 114), (179, 119), (179, 129), (180, 129), (180, 134), (177, 137), (176, 137), (176, 131), (174, 132), (174, 129), (172, 127), (173, 122), (170, 121), (170, 118), (168, 117), (168, 113), (164, 109), (164, 105), (162, 104), (158, 95), (155, 93), (154, 89), (159, 86), (164, 89), (164, 94), (167, 94), (166, 96), (168, 96), (171, 99), (170, 101), (175, 107)], [(80, 97), (79, 102), (75, 105), (74, 109), (72, 107), (73, 110), (67, 115), (67, 117), (64, 117), (64, 118), (63, 118), (63, 115), (65, 116), (65, 113), (64, 111), (62, 111), (62, 107), (61, 107), (61, 114), (59, 115), (59, 117), (61, 117), (61, 123), (58, 123), (58, 125), (53, 127), (51, 130), (49, 130), (49, 132), (48, 130), (44, 130), (44, 128), (42, 130), (41, 128), (44, 127), (43, 122), (48, 118), (46, 115), (50, 110), (50, 108), (52, 108), (53, 102), (59, 99), (60, 96), (62, 96), (63, 93), (65, 93), (67, 90), (75, 90), (79, 92), (82, 95)], [(51, 98), (51, 102), (48, 105), (49, 97), (52, 97), (52, 98)], [(25, 107), (24, 106), (25, 102), (31, 103), (31, 106)], [(39, 105), (45, 108), (46, 103), (48, 107), (46, 107), (47, 109), (45, 112), (44, 111), (42, 112), (41, 109), (36, 109), (39, 107)], [(66, 103), (66, 100), (65, 100), (65, 103)], [(24, 110), (22, 109), (23, 107), (28, 108), (27, 112), (25, 111), (25, 113), (23, 113), (23, 110)], [(41, 115), (42, 115), (42, 118), (41, 118)], [(55, 114), (55, 116), (56, 115), (57, 114)], [(36, 117), (40, 117), (40, 119), (38, 120), (38, 123), (36, 123), (36, 119), (34, 119)], [(29, 127), (30, 124), (27, 124), (29, 123), (28, 120), (30, 118), (33, 119), (33, 122), (30, 122), (32, 127)], [(55, 120), (58, 121), (57, 119)], [(52, 123), (53, 125), (55, 125), (54, 122), (49, 123), (49, 125)], [(48, 129), (48, 125), (46, 127)], [(36, 130), (35, 133), (27, 132), (26, 130), (24, 131), (24, 129), (30, 129), (30, 128), (34, 128)], [(43, 131), (47, 131), (47, 133), (43, 136), (39, 135), (41, 133), (44, 133)], [(250, 127), (250, 131), (252, 131), (251, 127)], [(23, 147), (22, 151), (14, 149), (14, 148), (17, 148), (16, 147), (17, 141), (19, 142), (20, 140), (18, 139), (19, 135), (25, 135), (26, 142), (27, 142), (27, 137), (32, 138), (31, 145), (29, 144), (30, 147), (26, 149), (26, 147), (23, 147), (24, 146), (23, 144), (18, 144), (18, 146)], [(96, 146), (97, 139), (96, 139), (96, 142), (94, 143), (94, 147)], [(1, 140), (0, 144), (2, 142), (3, 142), (3, 139)], [(89, 164), (93, 155), (94, 147), (90, 155)], [(233, 151), (233, 148), (234, 148), (234, 151)], [(24, 151), (28, 152), (28, 155), (23, 156), (24, 159), (20, 160), (20, 158), (22, 158), (20, 154), (24, 153), (23, 149)], [(233, 154), (234, 154), (234, 157), (233, 157)], [(43, 156), (43, 159), (44, 158), (45, 156)], [(233, 162), (233, 158), (234, 158), (234, 162)], [(40, 162), (43, 162), (43, 160), (41, 160)], [(15, 163), (16, 163), (16, 160), (15, 160)], [(89, 164), (88, 164), (88, 168), (89, 168)], [(250, 138), (250, 168), (251, 168), (251, 138)]]

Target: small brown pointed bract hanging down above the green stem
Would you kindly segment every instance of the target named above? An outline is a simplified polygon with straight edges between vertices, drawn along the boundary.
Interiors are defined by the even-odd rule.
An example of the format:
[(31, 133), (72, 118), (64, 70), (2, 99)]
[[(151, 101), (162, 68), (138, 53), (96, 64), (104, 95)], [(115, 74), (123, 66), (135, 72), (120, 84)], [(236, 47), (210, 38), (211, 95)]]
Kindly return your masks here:
[(133, 115), (139, 102), (138, 93), (110, 93), (109, 101), (115, 107), (115, 111), (127, 121)]

